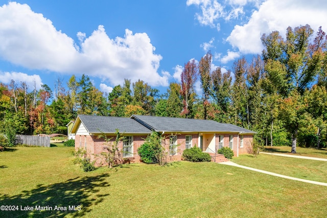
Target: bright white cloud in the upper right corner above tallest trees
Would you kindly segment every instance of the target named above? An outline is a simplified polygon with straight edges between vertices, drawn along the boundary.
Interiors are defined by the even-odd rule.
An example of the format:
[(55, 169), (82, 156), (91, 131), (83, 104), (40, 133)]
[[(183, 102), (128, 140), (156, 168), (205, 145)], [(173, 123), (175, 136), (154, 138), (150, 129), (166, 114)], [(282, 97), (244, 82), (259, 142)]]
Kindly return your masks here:
[(285, 38), (287, 27), (309, 24), (314, 31), (327, 20), (327, 2), (320, 0), (268, 0), (253, 11), (249, 21), (236, 25), (227, 41), (243, 54), (260, 54), (262, 34), (279, 31)]

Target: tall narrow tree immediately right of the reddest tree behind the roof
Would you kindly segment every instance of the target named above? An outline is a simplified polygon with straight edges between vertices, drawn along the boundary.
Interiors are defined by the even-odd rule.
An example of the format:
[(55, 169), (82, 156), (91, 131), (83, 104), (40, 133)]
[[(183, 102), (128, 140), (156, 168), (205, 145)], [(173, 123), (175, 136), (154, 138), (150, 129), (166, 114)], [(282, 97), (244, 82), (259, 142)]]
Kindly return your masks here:
[(211, 81), (211, 62), (213, 55), (207, 52), (199, 62), (199, 74), (201, 79), (202, 98), (203, 98), (203, 117), (207, 119), (207, 105), (211, 95), (212, 81)]

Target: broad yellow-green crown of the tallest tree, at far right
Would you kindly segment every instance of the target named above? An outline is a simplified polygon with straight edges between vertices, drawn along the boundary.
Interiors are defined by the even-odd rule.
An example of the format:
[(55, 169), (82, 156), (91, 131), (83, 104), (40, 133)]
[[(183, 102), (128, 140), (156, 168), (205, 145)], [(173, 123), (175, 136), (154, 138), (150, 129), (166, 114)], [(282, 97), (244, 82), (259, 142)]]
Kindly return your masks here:
[(287, 28), (286, 39), (277, 31), (269, 36), (263, 34), (261, 38), (265, 46), (263, 58), (269, 66), (266, 69), (269, 69), (267, 71), (272, 77), (271, 82), (277, 85), (283, 96), (287, 96), (294, 88), (302, 94), (321, 69), (320, 51), (323, 43), (320, 43), (319, 39), (323, 37), (319, 36), (323, 34), (321, 31), (318, 32), (315, 43), (310, 44), (312, 35), (313, 30), (306, 25), (296, 27), (294, 30), (291, 27)]

